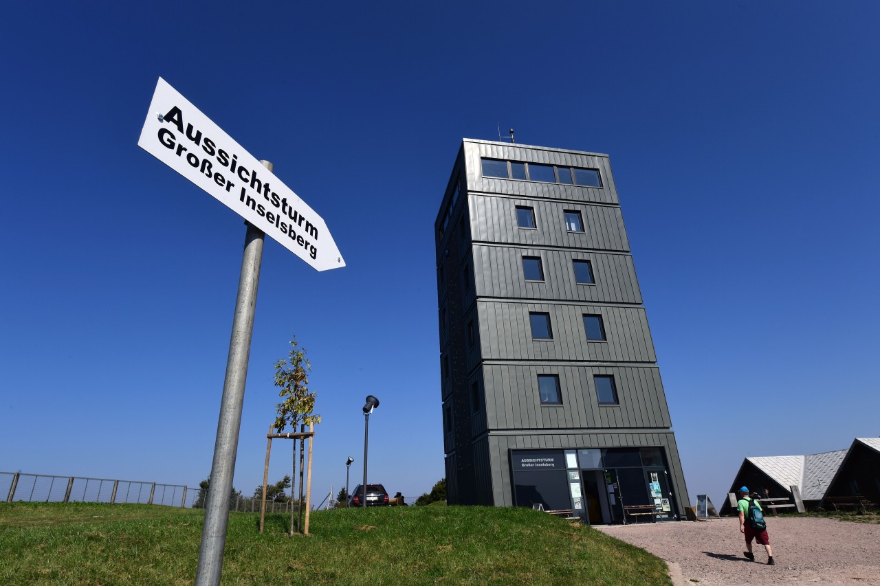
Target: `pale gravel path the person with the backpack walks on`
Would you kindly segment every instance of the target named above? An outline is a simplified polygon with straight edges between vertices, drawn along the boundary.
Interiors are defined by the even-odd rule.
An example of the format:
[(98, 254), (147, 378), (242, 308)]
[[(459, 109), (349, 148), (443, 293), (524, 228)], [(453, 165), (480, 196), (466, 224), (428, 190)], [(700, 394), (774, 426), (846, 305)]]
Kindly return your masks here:
[(745, 560), (745, 540), (736, 517), (597, 529), (678, 564), (685, 584), (776, 586), (810, 582), (880, 586), (880, 524), (771, 516), (767, 533), (775, 566), (766, 565), (764, 546), (753, 546), (755, 562)]

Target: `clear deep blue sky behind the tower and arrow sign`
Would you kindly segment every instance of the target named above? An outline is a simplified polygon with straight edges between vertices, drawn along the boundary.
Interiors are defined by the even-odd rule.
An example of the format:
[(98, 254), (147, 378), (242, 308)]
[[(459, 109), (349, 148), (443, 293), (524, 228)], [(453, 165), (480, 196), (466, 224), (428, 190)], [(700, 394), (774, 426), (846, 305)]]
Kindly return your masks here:
[[(316, 493), (444, 475), (433, 223), (462, 137), (609, 153), (692, 502), (745, 456), (877, 436), (869, 1), (14, 4), (0, 133), (0, 471), (197, 486), (245, 227), (136, 146), (164, 77), (322, 216), (267, 241), (235, 486), (296, 333)], [(760, 417), (746, 406), (763, 407)], [(276, 444), (280, 478), (290, 447)]]

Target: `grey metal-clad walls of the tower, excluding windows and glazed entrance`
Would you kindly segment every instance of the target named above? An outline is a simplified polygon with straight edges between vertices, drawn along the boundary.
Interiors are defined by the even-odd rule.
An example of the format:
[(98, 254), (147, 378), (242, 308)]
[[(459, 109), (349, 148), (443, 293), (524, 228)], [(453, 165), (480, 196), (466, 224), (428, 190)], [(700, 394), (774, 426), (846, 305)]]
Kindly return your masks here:
[[(598, 171), (602, 187), (484, 177), (481, 158)], [(517, 223), (533, 210), (535, 227)], [(583, 231), (569, 231), (578, 212)], [(642, 294), (606, 155), (466, 139), (435, 224), (438, 319), (449, 502), (514, 504), (510, 450), (656, 447), (675, 507), (689, 499)], [(527, 280), (523, 258), (540, 260)], [(589, 260), (594, 282), (576, 282)], [(552, 340), (534, 340), (530, 312)], [(601, 316), (588, 341), (583, 316)], [(559, 377), (561, 404), (542, 404), (537, 377)], [(612, 376), (600, 405), (595, 376)]]

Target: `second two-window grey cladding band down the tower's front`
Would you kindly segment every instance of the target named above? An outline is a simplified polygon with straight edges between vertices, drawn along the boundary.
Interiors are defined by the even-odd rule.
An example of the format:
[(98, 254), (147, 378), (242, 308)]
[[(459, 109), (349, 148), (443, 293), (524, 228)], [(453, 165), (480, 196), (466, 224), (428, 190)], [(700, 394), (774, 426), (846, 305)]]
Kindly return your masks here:
[[(524, 256), (540, 259), (543, 282), (525, 281)], [(594, 284), (576, 282), (574, 260), (590, 261)], [(474, 245), (473, 269), (478, 297), (642, 303), (633, 257), (629, 254)]]

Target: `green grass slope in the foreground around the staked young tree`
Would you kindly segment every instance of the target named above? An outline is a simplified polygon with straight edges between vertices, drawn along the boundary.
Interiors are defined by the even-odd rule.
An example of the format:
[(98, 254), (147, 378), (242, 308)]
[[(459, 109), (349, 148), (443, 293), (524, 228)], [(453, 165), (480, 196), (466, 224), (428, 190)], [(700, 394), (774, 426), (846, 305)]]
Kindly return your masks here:
[[(191, 584), (202, 510), (0, 503), (0, 583)], [(491, 507), (232, 513), (224, 584), (671, 584), (663, 560), (583, 524)]]

